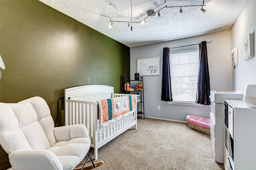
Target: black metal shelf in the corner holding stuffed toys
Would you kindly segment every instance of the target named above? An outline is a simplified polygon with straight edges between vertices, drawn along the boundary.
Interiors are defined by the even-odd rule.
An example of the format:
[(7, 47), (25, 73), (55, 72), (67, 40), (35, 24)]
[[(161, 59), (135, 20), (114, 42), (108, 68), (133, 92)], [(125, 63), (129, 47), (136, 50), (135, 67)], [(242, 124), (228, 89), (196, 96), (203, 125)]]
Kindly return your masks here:
[[(128, 82), (130, 84), (130, 88), (134, 88), (134, 91), (129, 91), (130, 94), (139, 94), (140, 95), (140, 101), (138, 102), (137, 100), (137, 114), (140, 115), (140, 117), (142, 117), (143, 115), (143, 119), (145, 119), (145, 112), (144, 112), (144, 83), (143, 83), (143, 76), (140, 77), (139, 80), (127, 80), (127, 77), (124, 76), (124, 82), (125, 84)], [(141, 82), (142, 83), (142, 91), (136, 91), (136, 87), (138, 86), (138, 84), (135, 84), (134, 82)], [(129, 93), (128, 91), (126, 91), (126, 94)]]

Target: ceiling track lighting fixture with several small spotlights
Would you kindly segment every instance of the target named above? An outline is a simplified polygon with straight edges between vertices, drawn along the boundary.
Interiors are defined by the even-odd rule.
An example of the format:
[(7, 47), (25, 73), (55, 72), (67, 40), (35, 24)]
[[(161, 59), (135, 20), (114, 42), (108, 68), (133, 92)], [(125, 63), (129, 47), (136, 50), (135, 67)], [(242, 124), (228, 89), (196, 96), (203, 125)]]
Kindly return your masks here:
[(206, 10), (203, 8), (203, 6), (206, 6), (205, 4), (204, 4), (204, 0), (203, 0), (203, 4), (202, 5), (187, 5), (187, 6), (164, 6), (163, 8), (161, 8), (160, 10), (157, 10), (156, 12), (154, 11), (154, 10), (148, 10), (147, 11), (147, 14), (148, 14), (148, 16), (146, 17), (146, 18), (144, 18), (144, 19), (142, 19), (142, 20), (140, 20), (140, 21), (138, 21), (138, 22), (135, 22), (135, 21), (132, 21), (132, 0), (130, 0), (130, 2), (131, 2), (131, 21), (113, 21), (113, 20), (111, 20), (111, 18), (110, 18), (110, 22), (111, 22), (111, 24), (109, 25), (109, 27), (111, 28), (112, 27), (112, 25), (113, 25), (113, 22), (128, 22), (128, 27), (130, 26), (130, 23), (131, 23), (131, 31), (132, 31), (132, 23), (142, 23), (142, 24), (144, 24), (144, 23), (146, 23), (146, 19), (148, 18), (148, 17), (151, 17), (151, 16), (154, 16), (154, 15), (156, 15), (156, 12), (157, 12), (157, 14), (158, 14), (158, 18), (160, 18), (161, 17), (161, 15), (160, 15), (160, 10), (162, 10), (162, 9), (164, 9), (164, 8), (180, 8), (180, 13), (182, 13), (183, 12), (183, 10), (182, 10), (182, 7), (191, 7), (191, 6), (201, 6), (201, 11), (204, 13), (204, 12), (206, 12)]

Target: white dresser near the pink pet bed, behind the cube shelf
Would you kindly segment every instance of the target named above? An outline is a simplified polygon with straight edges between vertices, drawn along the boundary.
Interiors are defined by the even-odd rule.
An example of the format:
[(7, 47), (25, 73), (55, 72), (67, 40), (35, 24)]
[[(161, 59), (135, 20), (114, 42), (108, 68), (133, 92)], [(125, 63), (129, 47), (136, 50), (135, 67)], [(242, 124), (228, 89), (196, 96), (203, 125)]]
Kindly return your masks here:
[(224, 163), (224, 100), (242, 100), (243, 91), (220, 91), (211, 90), (211, 141), (214, 161)]

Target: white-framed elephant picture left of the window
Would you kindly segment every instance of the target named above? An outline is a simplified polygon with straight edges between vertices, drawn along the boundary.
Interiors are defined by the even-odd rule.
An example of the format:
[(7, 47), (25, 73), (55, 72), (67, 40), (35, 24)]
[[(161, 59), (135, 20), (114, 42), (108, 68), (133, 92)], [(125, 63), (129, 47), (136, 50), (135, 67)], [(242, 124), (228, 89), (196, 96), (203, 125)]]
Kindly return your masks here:
[(137, 59), (137, 72), (140, 76), (160, 76), (160, 57)]

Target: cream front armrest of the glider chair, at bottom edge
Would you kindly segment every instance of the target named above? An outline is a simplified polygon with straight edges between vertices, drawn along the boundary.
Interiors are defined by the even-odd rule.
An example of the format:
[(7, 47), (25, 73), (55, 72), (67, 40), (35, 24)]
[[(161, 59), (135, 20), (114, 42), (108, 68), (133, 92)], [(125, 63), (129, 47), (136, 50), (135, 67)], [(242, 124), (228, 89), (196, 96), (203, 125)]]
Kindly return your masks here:
[(57, 156), (49, 150), (15, 150), (9, 154), (9, 160), (14, 170), (63, 170)]

